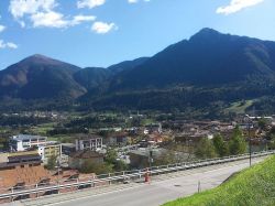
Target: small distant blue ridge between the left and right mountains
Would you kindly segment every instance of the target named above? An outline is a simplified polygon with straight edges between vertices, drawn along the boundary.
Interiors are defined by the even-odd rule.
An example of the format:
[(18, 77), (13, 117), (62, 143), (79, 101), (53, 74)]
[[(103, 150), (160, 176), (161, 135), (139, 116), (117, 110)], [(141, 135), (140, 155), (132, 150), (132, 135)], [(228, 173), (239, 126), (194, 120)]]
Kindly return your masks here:
[(114, 64), (108, 67), (109, 71), (111, 71), (113, 74), (121, 73), (123, 71), (130, 71), (135, 68), (136, 66), (142, 65), (145, 63), (150, 57), (140, 57), (133, 61), (124, 61), (119, 64)]

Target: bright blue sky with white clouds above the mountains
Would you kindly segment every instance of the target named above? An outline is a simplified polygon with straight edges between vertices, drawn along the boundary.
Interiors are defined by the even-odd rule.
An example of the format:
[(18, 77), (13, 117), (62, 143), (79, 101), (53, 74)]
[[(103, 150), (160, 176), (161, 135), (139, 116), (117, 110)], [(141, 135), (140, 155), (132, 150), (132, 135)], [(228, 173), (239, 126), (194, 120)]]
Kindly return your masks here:
[(33, 54), (107, 67), (202, 28), (275, 41), (274, 10), (275, 0), (0, 0), (0, 69)]

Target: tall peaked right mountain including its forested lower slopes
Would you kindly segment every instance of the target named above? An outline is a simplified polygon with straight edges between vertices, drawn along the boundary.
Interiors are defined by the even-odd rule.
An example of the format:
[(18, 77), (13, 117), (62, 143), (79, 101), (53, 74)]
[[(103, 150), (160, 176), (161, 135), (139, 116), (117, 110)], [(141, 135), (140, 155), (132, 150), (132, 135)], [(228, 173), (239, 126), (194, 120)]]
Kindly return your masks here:
[(246, 100), (271, 111), (274, 96), (275, 42), (202, 29), (114, 76), (106, 95), (94, 98), (94, 107), (212, 118)]

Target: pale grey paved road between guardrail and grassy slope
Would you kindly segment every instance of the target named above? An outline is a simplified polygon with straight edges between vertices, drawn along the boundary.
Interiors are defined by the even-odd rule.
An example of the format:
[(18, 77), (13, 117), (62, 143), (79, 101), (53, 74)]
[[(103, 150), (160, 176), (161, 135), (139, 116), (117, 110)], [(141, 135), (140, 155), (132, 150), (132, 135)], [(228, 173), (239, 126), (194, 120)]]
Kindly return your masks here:
[[(254, 159), (253, 163), (265, 158)], [(206, 166), (178, 173), (155, 176), (150, 184), (131, 183), (90, 189), (74, 194), (56, 195), (16, 205), (59, 205), (59, 206), (158, 206), (178, 197), (189, 196), (200, 189), (220, 185), (230, 175), (249, 166), (249, 160)], [(15, 205), (14, 204), (14, 205)]]

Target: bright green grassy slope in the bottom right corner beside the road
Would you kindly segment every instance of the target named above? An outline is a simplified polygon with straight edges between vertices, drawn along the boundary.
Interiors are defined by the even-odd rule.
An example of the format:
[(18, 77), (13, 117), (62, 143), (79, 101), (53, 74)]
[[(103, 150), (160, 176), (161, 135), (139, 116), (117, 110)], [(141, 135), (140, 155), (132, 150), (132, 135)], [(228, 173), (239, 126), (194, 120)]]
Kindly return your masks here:
[(164, 206), (274, 206), (275, 156), (242, 171), (219, 187)]

